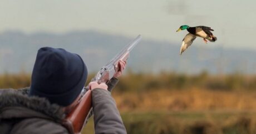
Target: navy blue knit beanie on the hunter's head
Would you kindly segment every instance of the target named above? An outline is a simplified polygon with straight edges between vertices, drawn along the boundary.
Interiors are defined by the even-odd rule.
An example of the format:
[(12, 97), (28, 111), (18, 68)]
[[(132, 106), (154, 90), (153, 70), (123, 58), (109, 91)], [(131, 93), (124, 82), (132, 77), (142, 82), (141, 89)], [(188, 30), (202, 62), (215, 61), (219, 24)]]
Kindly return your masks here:
[(68, 106), (80, 94), (87, 79), (82, 58), (64, 49), (41, 48), (37, 52), (29, 96), (46, 97), (52, 104)]

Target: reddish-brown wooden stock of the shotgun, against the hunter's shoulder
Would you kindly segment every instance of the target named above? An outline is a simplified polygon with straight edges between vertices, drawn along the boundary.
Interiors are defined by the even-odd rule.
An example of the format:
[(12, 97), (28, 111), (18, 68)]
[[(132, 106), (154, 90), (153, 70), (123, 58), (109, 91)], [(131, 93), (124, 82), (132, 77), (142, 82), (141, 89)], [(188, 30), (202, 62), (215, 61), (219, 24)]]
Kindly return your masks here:
[(83, 128), (87, 116), (90, 114), (92, 107), (92, 91), (87, 90), (82, 96), (81, 101), (76, 107), (66, 116), (63, 126), (65, 126), (70, 133), (79, 134)]

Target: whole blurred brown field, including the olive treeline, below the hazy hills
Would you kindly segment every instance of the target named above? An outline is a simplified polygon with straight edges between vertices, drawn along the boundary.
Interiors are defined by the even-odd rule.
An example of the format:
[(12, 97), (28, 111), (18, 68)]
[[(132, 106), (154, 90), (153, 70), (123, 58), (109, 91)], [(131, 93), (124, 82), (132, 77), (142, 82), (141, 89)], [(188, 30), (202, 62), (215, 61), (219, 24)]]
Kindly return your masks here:
[[(90, 79), (93, 75), (90, 75)], [(1, 88), (29, 86), (29, 74), (0, 76)], [(176, 73), (120, 78), (112, 95), (128, 133), (256, 133), (256, 76)], [(92, 118), (83, 133), (93, 133)]]

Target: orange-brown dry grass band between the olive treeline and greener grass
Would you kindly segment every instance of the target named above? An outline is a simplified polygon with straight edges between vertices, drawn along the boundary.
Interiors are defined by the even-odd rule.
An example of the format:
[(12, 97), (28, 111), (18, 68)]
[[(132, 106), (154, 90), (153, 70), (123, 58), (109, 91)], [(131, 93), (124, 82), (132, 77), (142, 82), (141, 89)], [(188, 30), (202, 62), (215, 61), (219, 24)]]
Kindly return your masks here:
[(236, 110), (256, 111), (256, 91), (152, 90), (116, 93), (121, 111)]

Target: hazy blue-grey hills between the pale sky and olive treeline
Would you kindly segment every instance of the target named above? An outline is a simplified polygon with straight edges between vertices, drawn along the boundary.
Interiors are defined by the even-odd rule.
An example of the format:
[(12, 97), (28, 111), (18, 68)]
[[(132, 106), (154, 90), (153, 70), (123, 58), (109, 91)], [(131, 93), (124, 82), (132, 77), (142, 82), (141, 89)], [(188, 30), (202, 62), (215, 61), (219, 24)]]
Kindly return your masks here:
[[(92, 73), (99, 70), (134, 38), (92, 30), (65, 34), (4, 32), (0, 34), (0, 73), (30, 73), (37, 50), (41, 47), (64, 48), (81, 55)], [(216, 44), (218, 42), (214, 45)], [(180, 43), (142, 38), (132, 51), (127, 67), (144, 73), (178, 71), (195, 74), (205, 70), (211, 74), (256, 74), (255, 51), (224, 49), (221, 44), (216, 45), (217, 47), (208, 45), (211, 44), (202, 48), (194, 43), (193, 47), (180, 56)]]

